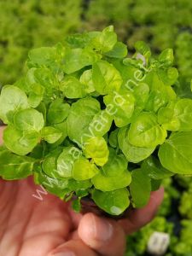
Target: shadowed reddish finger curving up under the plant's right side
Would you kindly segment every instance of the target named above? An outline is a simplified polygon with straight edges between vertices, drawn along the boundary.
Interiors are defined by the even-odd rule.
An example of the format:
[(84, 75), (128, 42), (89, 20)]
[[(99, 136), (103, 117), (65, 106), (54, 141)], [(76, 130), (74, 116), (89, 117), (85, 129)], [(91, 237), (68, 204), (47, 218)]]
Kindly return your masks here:
[(150, 201), (146, 207), (134, 209), (128, 214), (127, 218), (120, 219), (118, 222), (123, 230), (125, 230), (125, 233), (129, 235), (148, 224), (154, 218), (163, 198), (164, 189), (161, 187), (159, 190), (151, 193)]

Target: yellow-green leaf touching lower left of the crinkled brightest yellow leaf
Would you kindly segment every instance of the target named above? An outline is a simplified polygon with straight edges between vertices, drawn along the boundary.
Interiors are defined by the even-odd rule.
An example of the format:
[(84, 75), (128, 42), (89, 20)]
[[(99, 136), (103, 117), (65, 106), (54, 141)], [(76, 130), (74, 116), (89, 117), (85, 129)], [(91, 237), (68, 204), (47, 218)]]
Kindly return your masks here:
[(98, 172), (99, 169), (96, 168), (96, 165), (90, 163), (90, 161), (85, 159), (83, 156), (74, 162), (73, 178), (75, 180), (81, 181), (90, 179), (91, 177), (94, 177)]

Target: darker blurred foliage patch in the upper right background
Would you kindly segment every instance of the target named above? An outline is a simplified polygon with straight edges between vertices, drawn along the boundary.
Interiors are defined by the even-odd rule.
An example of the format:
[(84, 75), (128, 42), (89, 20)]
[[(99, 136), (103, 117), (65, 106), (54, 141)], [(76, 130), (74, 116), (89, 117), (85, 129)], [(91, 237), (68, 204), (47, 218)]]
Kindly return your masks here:
[(157, 0), (155, 4), (153, 0), (125, 0), (120, 4), (117, 0), (93, 0), (85, 14), (84, 26), (88, 30), (102, 29), (113, 23), (119, 37), (127, 40), (131, 49), (138, 40), (148, 42), (154, 53), (173, 48), (179, 80), (186, 90), (192, 67), (189, 54), (192, 45), (191, 12), (189, 0)]

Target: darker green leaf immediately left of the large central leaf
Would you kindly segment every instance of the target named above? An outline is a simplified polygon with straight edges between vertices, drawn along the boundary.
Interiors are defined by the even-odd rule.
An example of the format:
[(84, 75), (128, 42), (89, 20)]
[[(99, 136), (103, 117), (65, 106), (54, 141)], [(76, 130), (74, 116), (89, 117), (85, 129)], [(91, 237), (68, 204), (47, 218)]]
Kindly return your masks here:
[(69, 104), (64, 103), (62, 99), (56, 99), (51, 102), (47, 113), (49, 125), (59, 124), (67, 119), (69, 108)]

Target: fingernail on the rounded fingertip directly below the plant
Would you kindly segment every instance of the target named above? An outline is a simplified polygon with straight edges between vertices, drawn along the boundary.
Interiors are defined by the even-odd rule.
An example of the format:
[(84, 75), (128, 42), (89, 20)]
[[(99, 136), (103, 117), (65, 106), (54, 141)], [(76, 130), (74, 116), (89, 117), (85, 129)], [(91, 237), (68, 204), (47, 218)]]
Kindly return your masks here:
[(96, 240), (108, 241), (113, 235), (113, 225), (102, 218), (92, 216), (93, 232)]

